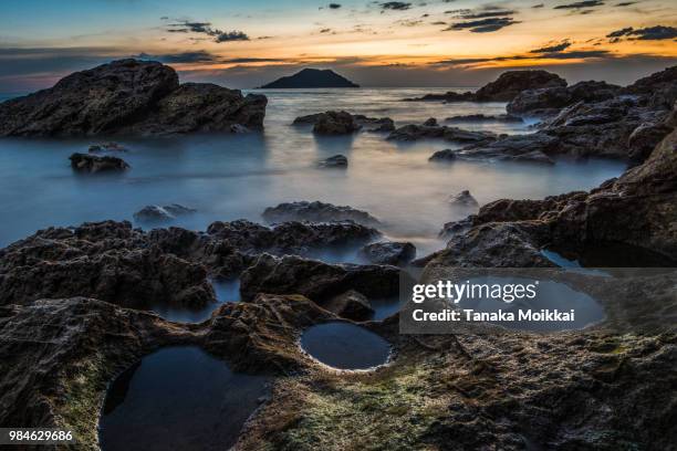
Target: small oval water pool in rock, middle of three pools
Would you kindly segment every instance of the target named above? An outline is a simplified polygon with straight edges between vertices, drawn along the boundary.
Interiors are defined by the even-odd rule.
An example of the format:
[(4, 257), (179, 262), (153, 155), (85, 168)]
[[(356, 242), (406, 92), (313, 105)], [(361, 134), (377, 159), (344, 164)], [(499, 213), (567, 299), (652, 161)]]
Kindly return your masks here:
[(350, 323), (325, 323), (301, 335), (301, 348), (336, 369), (367, 369), (383, 365), (390, 344), (375, 333)]

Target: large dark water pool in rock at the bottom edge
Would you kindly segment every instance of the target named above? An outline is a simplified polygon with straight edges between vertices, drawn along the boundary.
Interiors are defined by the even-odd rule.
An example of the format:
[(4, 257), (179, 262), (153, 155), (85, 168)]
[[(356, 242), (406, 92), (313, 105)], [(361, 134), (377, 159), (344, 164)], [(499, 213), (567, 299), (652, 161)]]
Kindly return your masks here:
[(229, 449), (268, 380), (233, 373), (195, 346), (160, 349), (111, 385), (100, 421), (102, 450)]

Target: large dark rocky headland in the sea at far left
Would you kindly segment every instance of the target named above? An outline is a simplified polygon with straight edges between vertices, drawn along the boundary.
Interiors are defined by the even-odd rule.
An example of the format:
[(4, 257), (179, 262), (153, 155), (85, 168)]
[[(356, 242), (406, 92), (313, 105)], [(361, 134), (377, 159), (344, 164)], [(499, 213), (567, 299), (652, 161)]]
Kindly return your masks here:
[(148, 136), (261, 128), (268, 99), (209, 83), (179, 85), (158, 62), (119, 60), (0, 104), (0, 136)]

